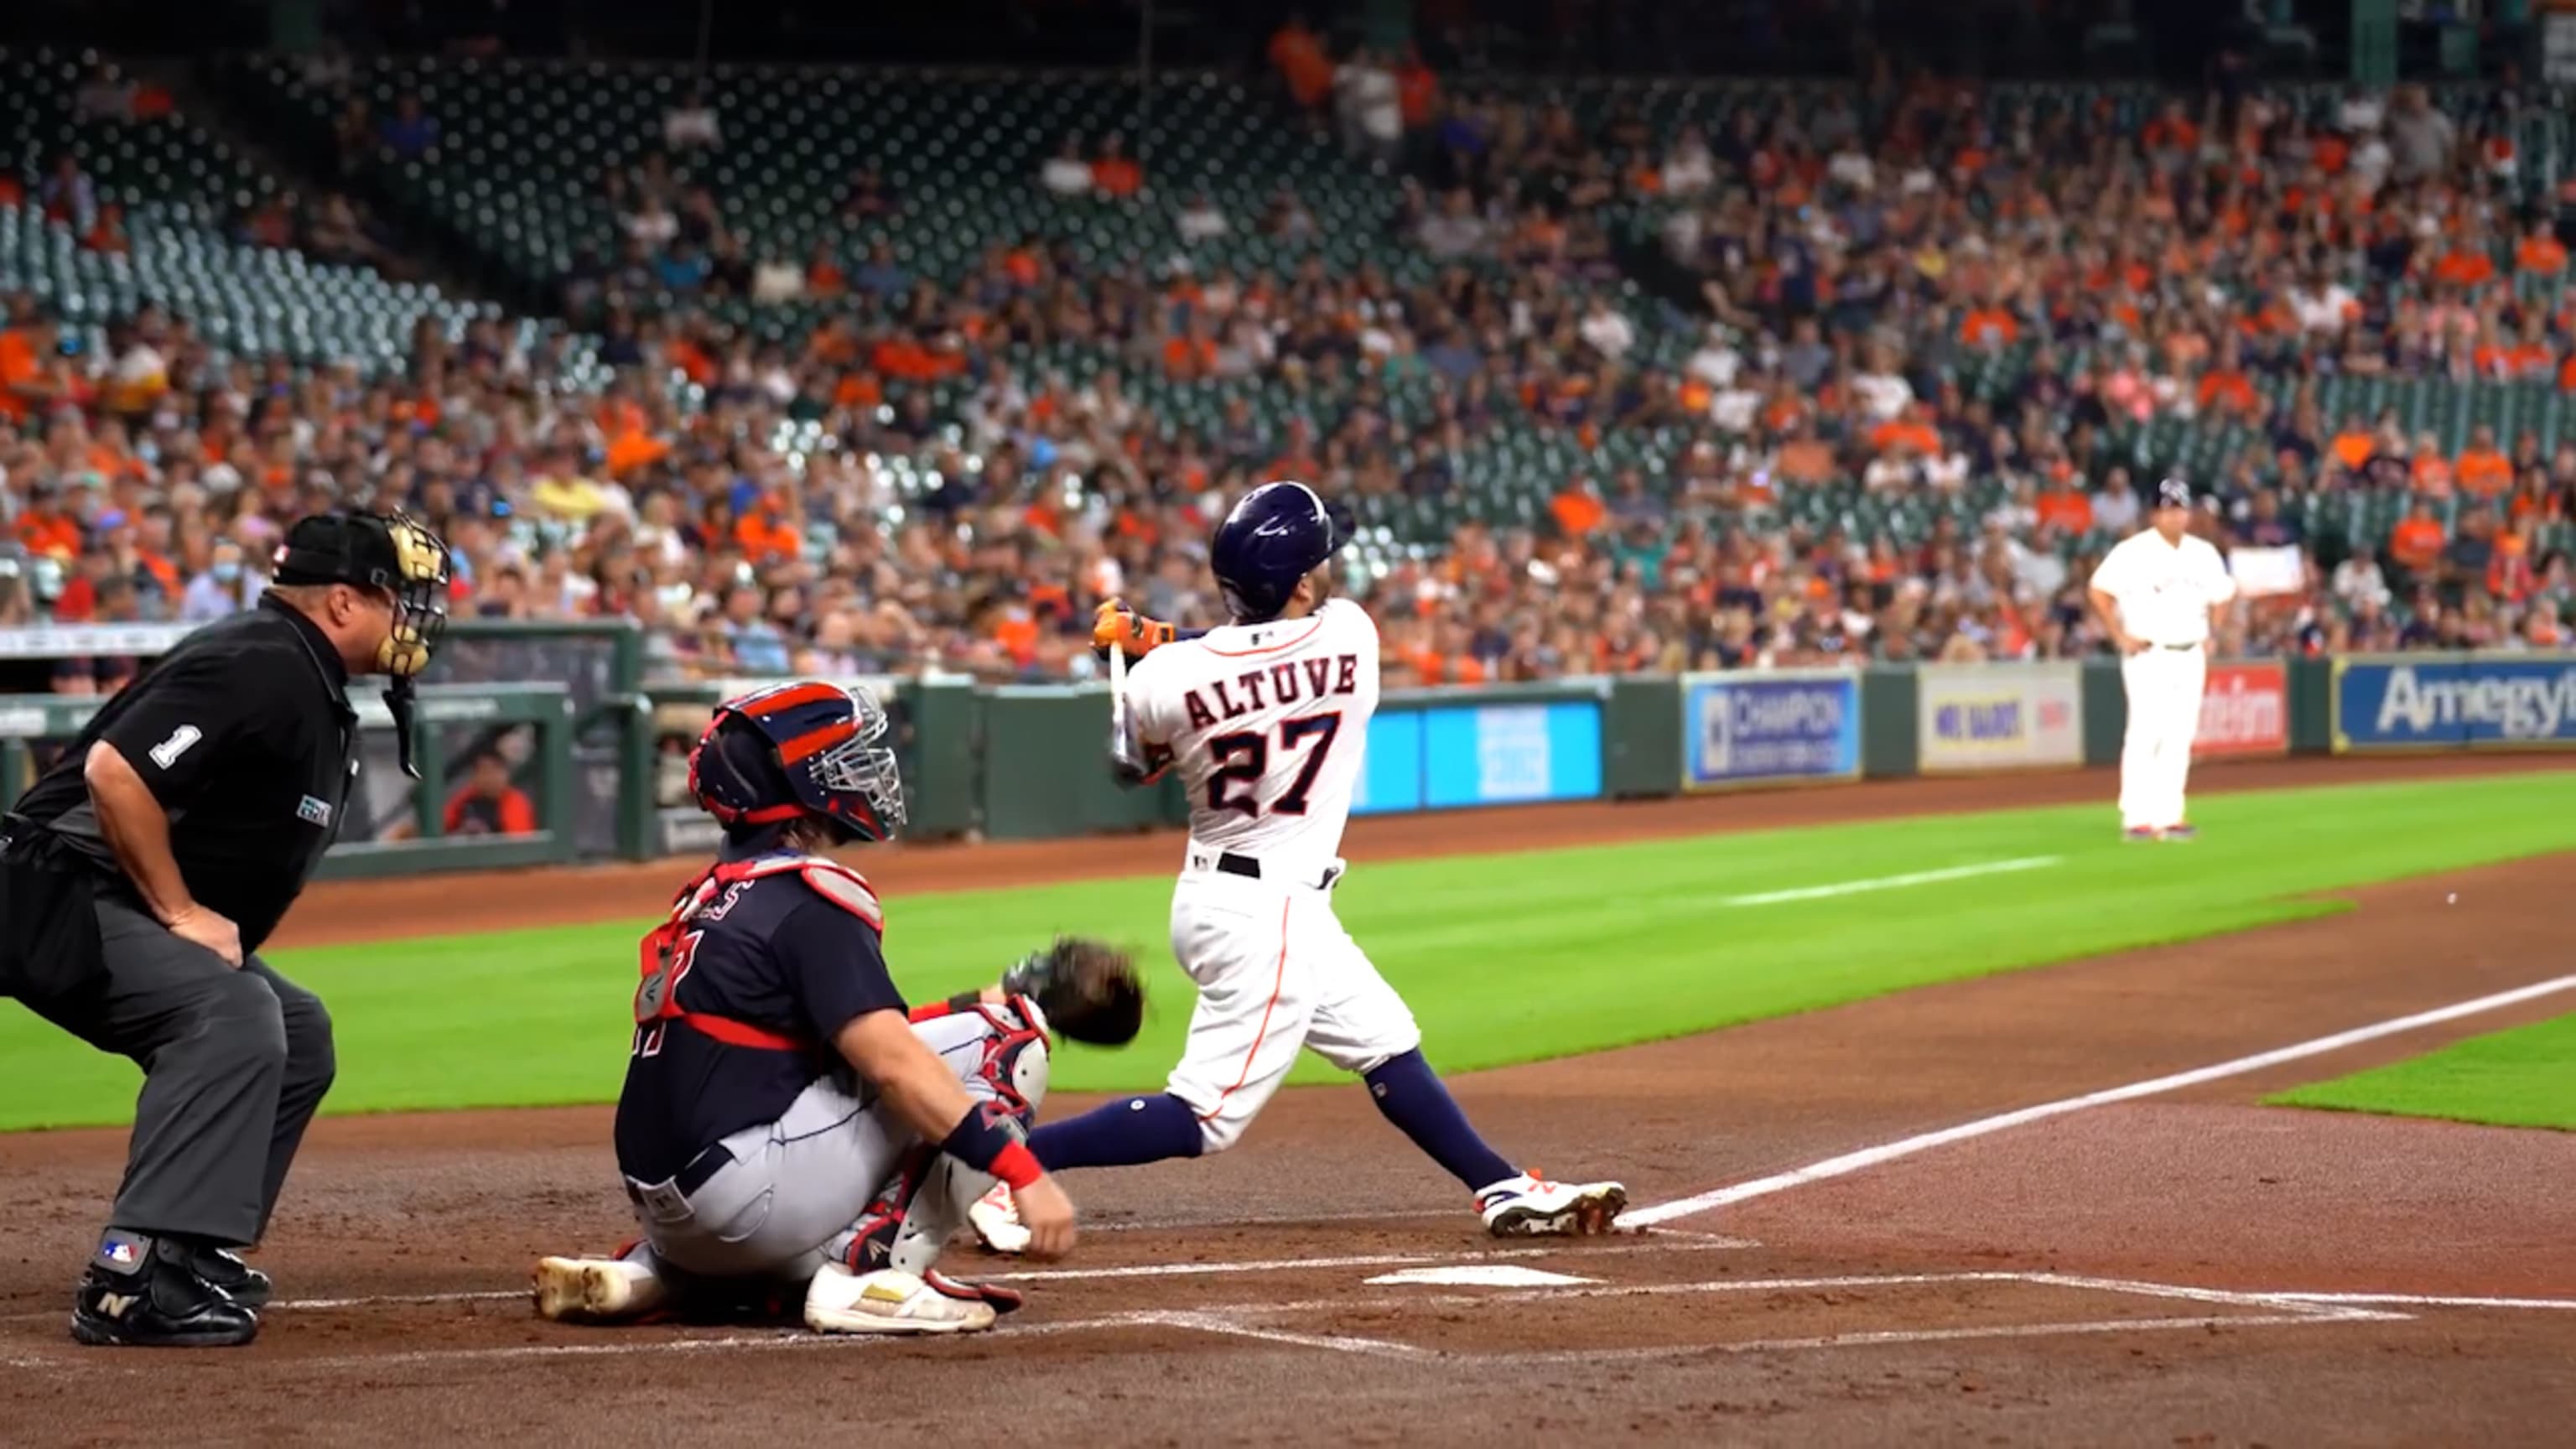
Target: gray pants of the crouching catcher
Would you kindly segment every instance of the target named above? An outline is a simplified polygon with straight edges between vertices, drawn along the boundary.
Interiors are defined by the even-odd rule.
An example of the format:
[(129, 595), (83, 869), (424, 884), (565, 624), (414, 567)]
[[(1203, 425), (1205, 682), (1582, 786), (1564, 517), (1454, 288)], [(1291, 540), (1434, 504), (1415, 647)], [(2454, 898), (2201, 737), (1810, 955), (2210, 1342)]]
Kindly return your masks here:
[[(1005, 1091), (987, 1047), (1020, 1026), (1005, 1008), (994, 1011), (999, 1026), (979, 1011), (912, 1026), (979, 1104), (999, 1101)], [(1012, 1070), (1012, 1062), (999, 1067)], [(1038, 1109), (1046, 1096), (1043, 1036), (1015, 1055), (1007, 1085), (1028, 1111)], [(626, 1181), (654, 1258), (706, 1279), (811, 1279), (824, 1263), (848, 1263), (853, 1243), (886, 1220), (899, 1222), (889, 1263), (920, 1274), (938, 1263), (940, 1248), (966, 1225), (966, 1209), (994, 1183), (938, 1152), (935, 1142), (925, 1145), (886, 1104), (835, 1078), (809, 1085), (778, 1122), (744, 1127), (719, 1147), (732, 1152), (732, 1165), (716, 1168), (696, 1191), (683, 1194), (672, 1181)]]

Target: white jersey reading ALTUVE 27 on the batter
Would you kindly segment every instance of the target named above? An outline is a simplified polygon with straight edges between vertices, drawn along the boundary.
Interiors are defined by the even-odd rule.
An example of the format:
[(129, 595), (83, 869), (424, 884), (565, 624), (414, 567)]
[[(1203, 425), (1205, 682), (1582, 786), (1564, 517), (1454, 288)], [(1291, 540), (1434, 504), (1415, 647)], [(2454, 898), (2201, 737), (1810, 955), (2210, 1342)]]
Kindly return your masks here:
[(1360, 786), (1378, 621), (1329, 598), (1306, 619), (1177, 639), (1128, 673), (1128, 709), (1190, 786), (1193, 841), (1311, 879), (1340, 856)]

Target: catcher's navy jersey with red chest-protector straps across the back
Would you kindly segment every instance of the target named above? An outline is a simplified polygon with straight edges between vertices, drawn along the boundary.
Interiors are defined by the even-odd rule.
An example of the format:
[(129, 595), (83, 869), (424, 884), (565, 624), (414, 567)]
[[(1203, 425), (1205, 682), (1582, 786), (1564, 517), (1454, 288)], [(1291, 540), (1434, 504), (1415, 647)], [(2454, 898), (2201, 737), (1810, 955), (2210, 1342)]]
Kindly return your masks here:
[(904, 1011), (873, 913), (866, 882), (804, 856), (726, 861), (683, 897), (644, 944), (647, 990), (618, 1093), (621, 1173), (667, 1181), (848, 1070), (832, 1036), (871, 1011)]

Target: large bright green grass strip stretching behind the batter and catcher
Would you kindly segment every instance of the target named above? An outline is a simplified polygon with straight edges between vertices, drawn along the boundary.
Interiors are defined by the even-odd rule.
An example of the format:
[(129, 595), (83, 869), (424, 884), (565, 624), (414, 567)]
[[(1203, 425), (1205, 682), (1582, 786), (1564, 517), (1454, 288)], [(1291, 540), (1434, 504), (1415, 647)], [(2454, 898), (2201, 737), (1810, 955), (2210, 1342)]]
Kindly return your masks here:
[[(2192, 846), (2125, 846), (2105, 804), (1365, 866), (1337, 892), (1443, 1070), (1682, 1036), (1924, 982), (2321, 915), (2316, 892), (2576, 851), (2576, 776), (2221, 794)], [(2043, 861), (1795, 900), (1917, 871)], [(1190, 1016), (1170, 877), (889, 902), (914, 1000), (1056, 931), (1151, 964), (1146, 1034), (1072, 1049), (1061, 1088), (1151, 1088)], [(327, 1111), (613, 1101), (644, 923), (278, 954), (340, 1034)], [(1329, 1080), (1306, 1060), (1298, 1080)], [(137, 1070), (0, 1003), (0, 1129), (116, 1124)]]

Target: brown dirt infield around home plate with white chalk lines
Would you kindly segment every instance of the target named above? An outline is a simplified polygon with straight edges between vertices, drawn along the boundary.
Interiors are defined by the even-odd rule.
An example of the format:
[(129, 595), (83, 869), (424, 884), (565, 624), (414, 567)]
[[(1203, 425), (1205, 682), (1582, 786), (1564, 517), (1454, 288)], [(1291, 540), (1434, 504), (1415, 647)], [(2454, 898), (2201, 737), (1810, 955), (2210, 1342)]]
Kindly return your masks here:
[[(2236, 766), (2210, 784), (2360, 773)], [(2099, 789), (1919, 781), (1445, 820), (1486, 843), (1497, 820), (1525, 820), (1525, 843), (1556, 843)], [(1355, 830), (1350, 853), (1435, 848), (1432, 825)], [(1133, 848), (1170, 856), (1170, 841)], [(1105, 856), (1139, 859), (1126, 851), (1064, 869), (1100, 874)], [(933, 864), (999, 882), (1038, 879), (1041, 861), (917, 851), (873, 874), (922, 890)], [(1074, 1176), (1090, 1235), (1072, 1263), (958, 1253), (963, 1271), (1012, 1271), (1030, 1307), (953, 1343), (536, 1323), (528, 1261), (623, 1230), (605, 1114), (582, 1109), (322, 1122), (260, 1256), (286, 1299), (260, 1346), (82, 1351), (64, 1338), (70, 1276), (121, 1140), (0, 1137), (21, 1225), (0, 1253), (0, 1441), (2558, 1444), (2576, 1415), (2576, 1134), (2251, 1104), (2563, 1013), (2576, 993), (1899, 1147), (2550, 980), (2568, 972), (2568, 864), (1461, 1078), (1504, 1150), (1561, 1176), (1615, 1171), (1641, 1207), (1736, 1189), (1610, 1240), (1492, 1243), (1363, 1093), (1291, 1091), (1239, 1152)], [(554, 897), (554, 920), (649, 910), (665, 887), (600, 882), (577, 902), (562, 877), (479, 882), (438, 920), (459, 928), (456, 900), (523, 884)], [(379, 900), (376, 923), (399, 910)], [(1870, 1147), (1886, 1160), (1798, 1173)], [(1461, 1269), (1479, 1281), (1425, 1281)]]

